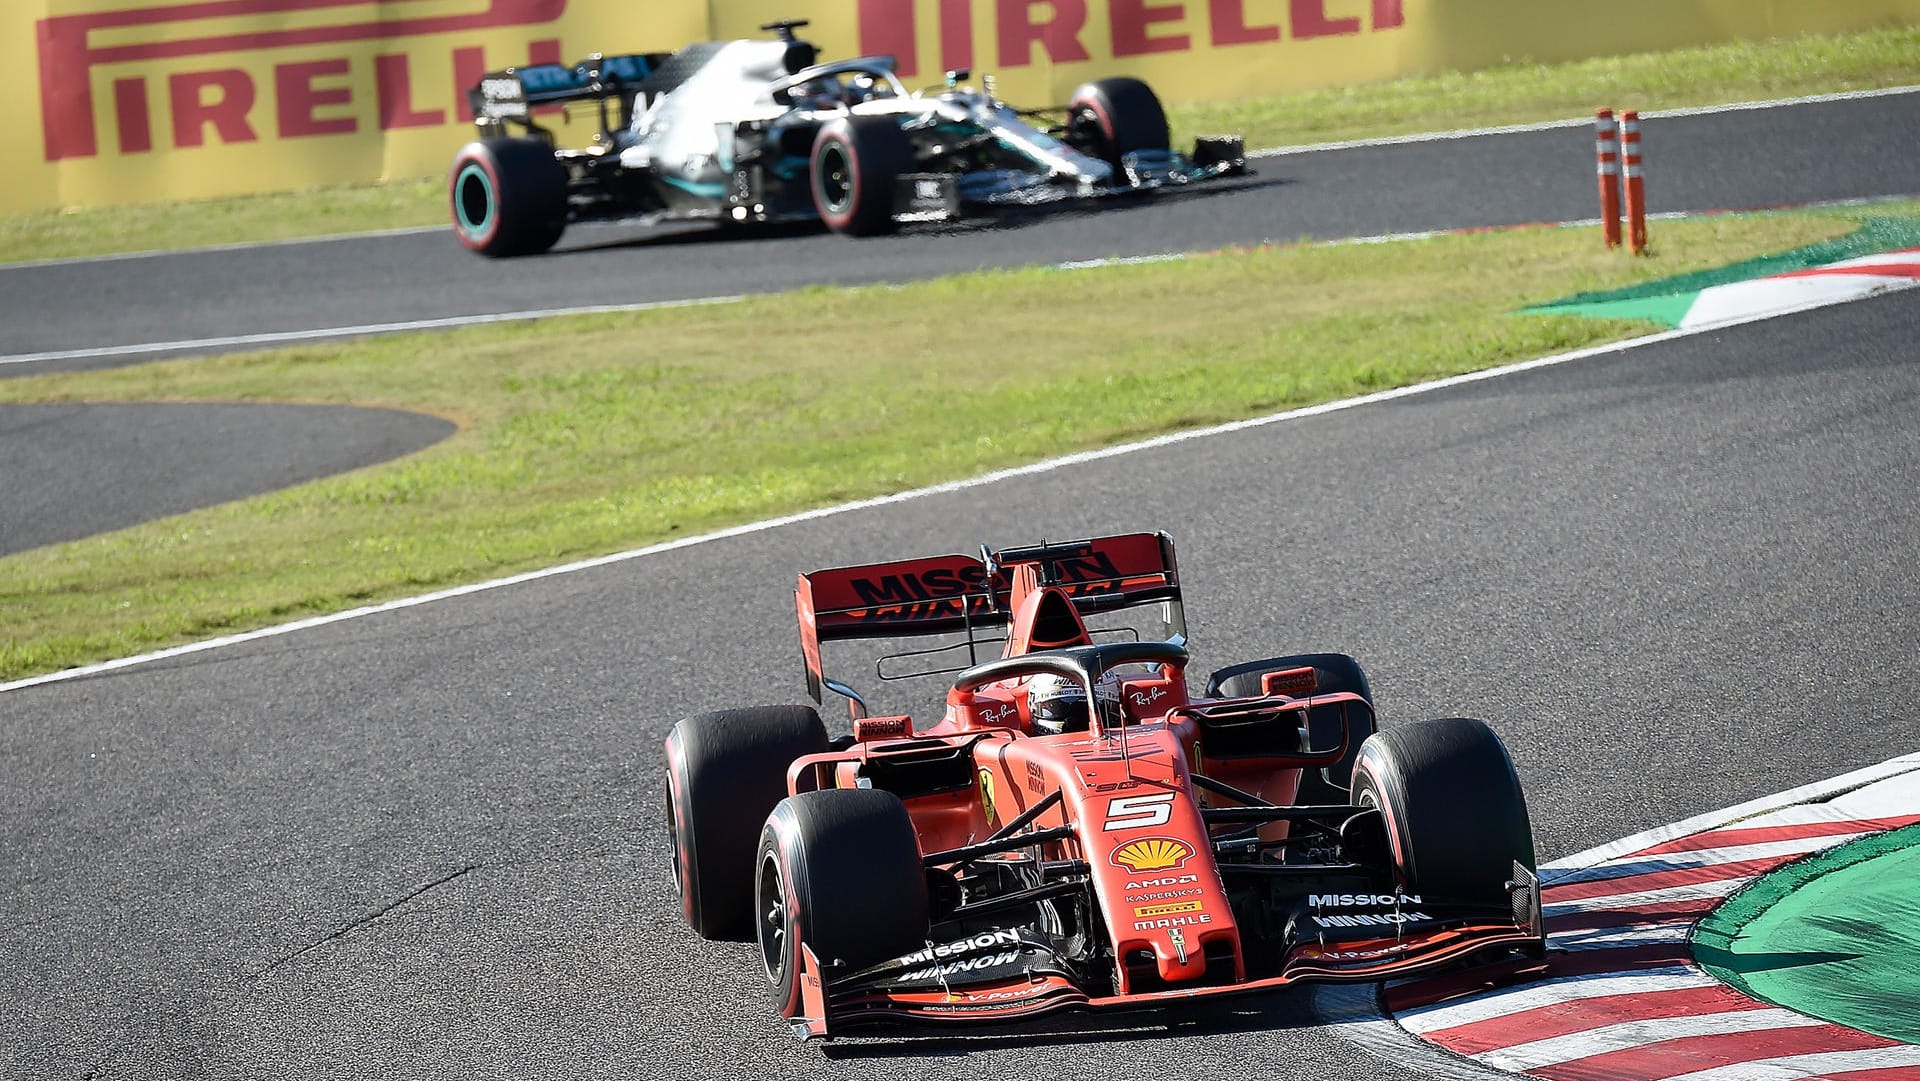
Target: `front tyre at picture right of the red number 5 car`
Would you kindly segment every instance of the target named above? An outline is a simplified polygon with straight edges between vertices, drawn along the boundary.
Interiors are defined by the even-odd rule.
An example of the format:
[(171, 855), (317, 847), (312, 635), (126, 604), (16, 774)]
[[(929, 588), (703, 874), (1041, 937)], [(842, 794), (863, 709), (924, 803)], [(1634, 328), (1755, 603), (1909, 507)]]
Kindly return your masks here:
[(1505, 908), (1513, 864), (1536, 866), (1521, 780), (1484, 722), (1421, 720), (1367, 737), (1354, 803), (1380, 810), (1405, 893)]

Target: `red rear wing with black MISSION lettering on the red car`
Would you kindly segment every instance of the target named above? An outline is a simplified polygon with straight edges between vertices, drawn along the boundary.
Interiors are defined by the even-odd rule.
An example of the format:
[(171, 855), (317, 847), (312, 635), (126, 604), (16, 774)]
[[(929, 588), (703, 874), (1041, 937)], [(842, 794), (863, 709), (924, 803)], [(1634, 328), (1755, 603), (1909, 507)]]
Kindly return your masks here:
[(1185, 639), (1181, 576), (1167, 534), (1117, 534), (1041, 543), (979, 557), (931, 555), (801, 574), (795, 609), (806, 691), (820, 701), (820, 643), (847, 637), (908, 637), (998, 628), (1012, 620), (1014, 570), (1033, 565), (1081, 614), (1165, 603), (1171, 634)]

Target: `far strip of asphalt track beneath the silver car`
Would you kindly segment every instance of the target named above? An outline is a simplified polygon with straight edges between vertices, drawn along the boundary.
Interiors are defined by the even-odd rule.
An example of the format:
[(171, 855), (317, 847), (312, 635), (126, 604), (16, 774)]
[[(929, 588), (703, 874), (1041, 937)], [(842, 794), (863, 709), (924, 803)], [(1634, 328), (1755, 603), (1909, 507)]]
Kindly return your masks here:
[[(1920, 92), (1645, 123), (1647, 207), (1920, 194)], [(0, 269), (0, 357), (238, 334), (674, 301), (1300, 238), (1594, 217), (1594, 138), (1565, 127), (1267, 157), (1256, 177), (1094, 213), (847, 240), (576, 228), (490, 261), (449, 230)], [(188, 349), (205, 351), (205, 349)], [(0, 374), (127, 363), (6, 363)]]

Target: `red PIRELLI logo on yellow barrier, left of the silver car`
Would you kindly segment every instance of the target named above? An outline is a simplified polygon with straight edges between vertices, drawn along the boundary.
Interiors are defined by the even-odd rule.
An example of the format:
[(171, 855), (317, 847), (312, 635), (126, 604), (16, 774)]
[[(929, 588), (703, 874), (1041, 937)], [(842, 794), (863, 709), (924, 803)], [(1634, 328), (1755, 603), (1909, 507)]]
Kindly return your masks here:
[[(261, 131), (276, 138), (353, 132), (363, 127), (361, 117), (342, 115), (342, 109), (357, 98), (374, 104), (367, 127), (440, 127), (449, 109), (413, 100), (405, 38), (543, 25), (566, 12), (566, 0), (467, 0), (467, 6), (478, 10), (447, 13), (440, 0), (202, 0), (40, 19), (35, 31), (46, 159), (100, 152), (94, 131), (98, 69), (117, 69), (111, 94), (121, 154), (154, 148), (156, 88), (171, 106), (175, 148), (205, 146), (209, 132), (219, 142), (255, 142)], [(259, 115), (261, 86), (253, 71), (240, 67), (244, 60), (257, 60), (248, 54), (367, 40), (394, 44), (394, 52), (372, 58), (371, 71), (355, 71), (348, 56), (276, 63), (271, 75), (275, 115)], [(559, 40), (530, 42), (528, 52), (534, 63), (561, 61)], [(311, 48), (301, 56), (311, 56)], [(138, 67), (129, 71), (180, 58), (205, 58), (205, 67), (152, 79)], [(447, 104), (457, 119), (472, 119), (465, 92), (486, 67), (480, 46), (455, 48), (451, 94), (434, 94), (426, 104)]]

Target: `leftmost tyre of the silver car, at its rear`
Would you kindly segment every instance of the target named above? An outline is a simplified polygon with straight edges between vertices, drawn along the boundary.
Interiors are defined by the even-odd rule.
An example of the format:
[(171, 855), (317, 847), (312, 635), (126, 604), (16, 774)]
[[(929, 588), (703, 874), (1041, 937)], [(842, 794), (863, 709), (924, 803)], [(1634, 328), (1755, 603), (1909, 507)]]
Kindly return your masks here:
[(482, 255), (536, 255), (566, 230), (566, 167), (538, 138), (482, 138), (447, 175), (453, 234)]

